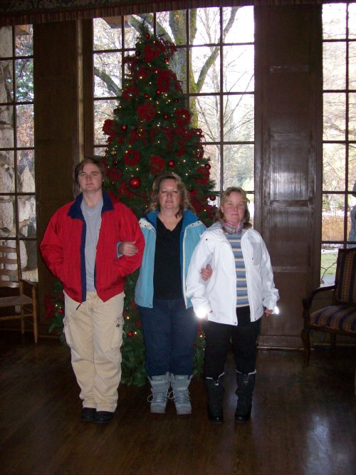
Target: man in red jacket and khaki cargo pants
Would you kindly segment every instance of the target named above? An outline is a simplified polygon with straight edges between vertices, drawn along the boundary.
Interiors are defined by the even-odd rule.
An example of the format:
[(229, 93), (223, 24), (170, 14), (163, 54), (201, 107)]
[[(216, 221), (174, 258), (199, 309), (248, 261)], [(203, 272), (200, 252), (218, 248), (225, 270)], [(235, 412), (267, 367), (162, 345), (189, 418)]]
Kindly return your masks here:
[(81, 419), (106, 423), (121, 377), (125, 276), (140, 267), (145, 240), (135, 214), (103, 191), (105, 167), (85, 158), (75, 167), (81, 193), (53, 214), (40, 245), (63, 283), (63, 319), (83, 400)]

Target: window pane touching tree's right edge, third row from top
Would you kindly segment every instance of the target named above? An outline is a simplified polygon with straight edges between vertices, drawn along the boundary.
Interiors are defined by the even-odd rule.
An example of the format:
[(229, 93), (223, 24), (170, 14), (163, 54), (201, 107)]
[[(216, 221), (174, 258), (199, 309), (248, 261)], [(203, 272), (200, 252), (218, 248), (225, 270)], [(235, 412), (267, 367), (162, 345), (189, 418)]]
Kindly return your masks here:
[[(196, 106), (194, 103), (196, 102)], [(190, 98), (190, 108), (197, 108), (199, 127), (208, 142), (220, 140), (220, 99), (217, 95), (202, 95)]]

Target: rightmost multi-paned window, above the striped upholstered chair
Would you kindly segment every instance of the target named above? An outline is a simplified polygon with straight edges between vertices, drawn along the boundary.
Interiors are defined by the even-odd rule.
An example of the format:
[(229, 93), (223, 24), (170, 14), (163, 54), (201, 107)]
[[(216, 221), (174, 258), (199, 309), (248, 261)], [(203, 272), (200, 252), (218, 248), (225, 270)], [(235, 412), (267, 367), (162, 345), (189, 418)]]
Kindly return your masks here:
[(356, 4), (323, 6), (321, 282), (335, 280), (337, 249), (356, 246)]

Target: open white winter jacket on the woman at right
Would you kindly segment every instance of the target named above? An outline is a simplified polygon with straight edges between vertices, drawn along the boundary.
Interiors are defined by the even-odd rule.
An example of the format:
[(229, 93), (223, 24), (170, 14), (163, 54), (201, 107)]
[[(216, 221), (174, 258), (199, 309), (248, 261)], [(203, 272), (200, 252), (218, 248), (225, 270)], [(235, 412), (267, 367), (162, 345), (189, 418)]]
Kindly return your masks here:
[[(261, 234), (254, 229), (245, 229), (241, 250), (246, 266), (251, 321), (255, 321), (262, 317), (264, 308), (275, 308), (279, 295)], [(213, 273), (204, 281), (200, 271), (208, 263)], [(192, 299), (194, 311), (200, 318), (208, 315), (213, 322), (237, 325), (234, 254), (219, 222), (204, 231), (194, 250), (187, 276), (187, 296)]]

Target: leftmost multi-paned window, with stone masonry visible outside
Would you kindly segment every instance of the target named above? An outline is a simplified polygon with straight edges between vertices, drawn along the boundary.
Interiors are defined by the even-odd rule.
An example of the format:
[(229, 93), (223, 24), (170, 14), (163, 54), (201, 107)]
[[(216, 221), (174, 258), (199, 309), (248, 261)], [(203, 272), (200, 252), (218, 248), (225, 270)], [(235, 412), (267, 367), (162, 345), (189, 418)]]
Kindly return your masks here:
[(0, 28), (0, 239), (20, 238), (23, 277), (37, 281), (32, 26)]

